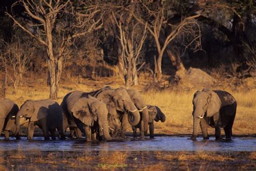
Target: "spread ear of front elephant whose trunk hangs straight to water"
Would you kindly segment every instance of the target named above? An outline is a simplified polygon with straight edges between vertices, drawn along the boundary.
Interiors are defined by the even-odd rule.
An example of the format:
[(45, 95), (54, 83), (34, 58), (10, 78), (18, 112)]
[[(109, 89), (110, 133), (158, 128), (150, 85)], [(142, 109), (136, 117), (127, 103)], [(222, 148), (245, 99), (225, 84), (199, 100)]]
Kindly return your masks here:
[(72, 105), (70, 109), (73, 117), (79, 119), (87, 126), (93, 125), (93, 118), (89, 110), (89, 106), (86, 98), (78, 99), (75, 104)]

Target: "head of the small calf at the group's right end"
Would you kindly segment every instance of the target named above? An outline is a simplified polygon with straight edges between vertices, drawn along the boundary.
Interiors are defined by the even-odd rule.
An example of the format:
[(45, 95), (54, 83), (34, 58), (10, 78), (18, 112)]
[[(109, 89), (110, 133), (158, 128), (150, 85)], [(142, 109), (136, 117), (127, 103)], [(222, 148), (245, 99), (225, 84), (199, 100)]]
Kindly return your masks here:
[(147, 108), (149, 110), (149, 122), (158, 122), (159, 120), (161, 122), (165, 122), (165, 114), (160, 110), (159, 107), (149, 105)]

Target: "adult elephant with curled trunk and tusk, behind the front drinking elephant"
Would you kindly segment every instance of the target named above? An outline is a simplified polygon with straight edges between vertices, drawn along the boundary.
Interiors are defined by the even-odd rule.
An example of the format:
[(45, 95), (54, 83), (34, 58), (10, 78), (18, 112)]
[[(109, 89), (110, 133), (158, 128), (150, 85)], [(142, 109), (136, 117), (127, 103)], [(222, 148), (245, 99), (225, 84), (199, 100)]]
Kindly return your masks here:
[[(125, 88), (113, 89), (109, 86), (100, 90), (90, 92), (91, 96), (102, 100), (109, 111), (109, 118), (116, 118), (121, 123), (127, 119), (129, 124), (135, 126), (139, 123), (140, 114), (134, 102), (131, 100)], [(124, 136), (125, 130), (121, 128), (121, 136)], [(115, 130), (117, 133), (117, 130)]]

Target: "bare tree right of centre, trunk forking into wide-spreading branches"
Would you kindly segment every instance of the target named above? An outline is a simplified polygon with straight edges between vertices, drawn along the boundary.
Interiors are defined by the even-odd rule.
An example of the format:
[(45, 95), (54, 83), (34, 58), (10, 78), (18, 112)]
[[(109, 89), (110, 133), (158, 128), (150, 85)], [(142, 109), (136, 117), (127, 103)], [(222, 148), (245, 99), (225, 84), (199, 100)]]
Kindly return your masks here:
[[(167, 19), (165, 16), (164, 6), (159, 4), (156, 10), (151, 10), (149, 8), (150, 3), (139, 2), (139, 4), (142, 5), (145, 9), (147, 16), (150, 16), (149, 18), (153, 18), (151, 21), (147, 21), (141, 17), (139, 13), (132, 13), (133, 17), (136, 18), (139, 23), (146, 25), (147, 30), (150, 32), (156, 42), (158, 57), (155, 59), (154, 74), (156, 81), (160, 81), (162, 78), (161, 61), (163, 59), (164, 51), (174, 38), (176, 38), (178, 35), (183, 33), (184, 30), (187, 29), (188, 25), (195, 24), (199, 28), (199, 25), (193, 20), (193, 18), (196, 18), (199, 15), (182, 18), (181, 21), (175, 25), (169, 24), (171, 31), (165, 35), (166, 32), (164, 32), (164, 26), (167, 24)], [(194, 42), (197, 39), (200, 39), (200, 36), (197, 35), (191, 41)], [(171, 49), (167, 49), (166, 52), (169, 55), (172, 64), (176, 66), (177, 70), (185, 70), (179, 55), (175, 54)]]

